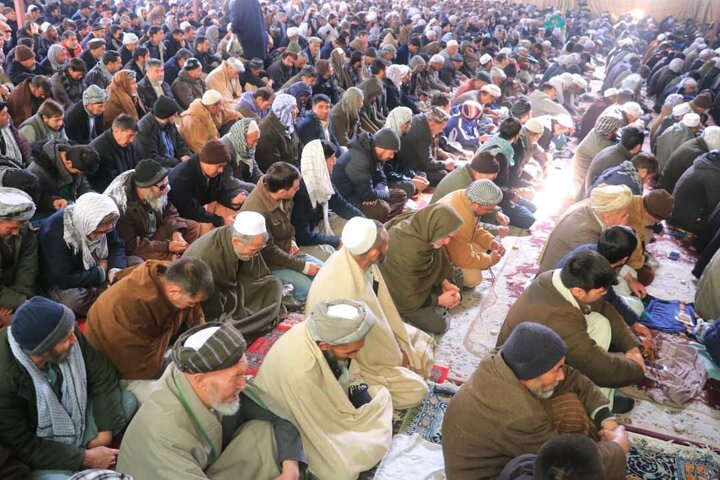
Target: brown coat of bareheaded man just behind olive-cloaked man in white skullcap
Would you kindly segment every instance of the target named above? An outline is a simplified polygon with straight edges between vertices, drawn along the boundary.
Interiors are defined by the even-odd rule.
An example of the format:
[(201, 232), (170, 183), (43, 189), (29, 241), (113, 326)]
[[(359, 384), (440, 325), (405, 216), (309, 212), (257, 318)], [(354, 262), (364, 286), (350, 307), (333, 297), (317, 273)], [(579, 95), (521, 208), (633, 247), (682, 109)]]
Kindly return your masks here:
[(262, 251), (262, 256), (270, 270), (290, 268), (301, 272), (305, 268), (304, 261), (289, 253), (292, 242), (295, 240), (295, 227), (290, 223), (292, 207), (292, 200), (278, 202), (270, 196), (263, 175), (240, 209), (241, 211), (257, 212), (265, 217), (269, 238), (267, 246)]

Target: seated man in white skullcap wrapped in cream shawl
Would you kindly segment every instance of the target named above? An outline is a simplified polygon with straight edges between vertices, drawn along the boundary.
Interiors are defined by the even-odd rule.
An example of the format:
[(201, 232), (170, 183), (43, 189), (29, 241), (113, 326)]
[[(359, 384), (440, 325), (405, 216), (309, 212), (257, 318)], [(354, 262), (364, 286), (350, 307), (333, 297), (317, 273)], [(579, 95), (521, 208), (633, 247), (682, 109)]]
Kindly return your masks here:
[(424, 378), (434, 364), (433, 339), (403, 322), (378, 265), (389, 236), (377, 220), (355, 217), (343, 229), (343, 248), (330, 257), (310, 287), (306, 315), (324, 300), (363, 302), (377, 323), (351, 364), (351, 373), (390, 391), (393, 406), (417, 405), (427, 394)]

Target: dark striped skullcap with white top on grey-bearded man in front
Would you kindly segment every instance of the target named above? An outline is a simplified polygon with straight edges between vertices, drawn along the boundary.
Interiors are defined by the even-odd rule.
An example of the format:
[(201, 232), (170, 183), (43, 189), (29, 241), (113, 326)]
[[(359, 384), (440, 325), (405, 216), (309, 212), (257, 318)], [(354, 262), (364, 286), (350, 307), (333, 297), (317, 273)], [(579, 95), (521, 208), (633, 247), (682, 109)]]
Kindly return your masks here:
[(172, 358), (181, 372), (215, 372), (236, 365), (246, 348), (245, 338), (231, 323), (210, 322), (182, 334)]

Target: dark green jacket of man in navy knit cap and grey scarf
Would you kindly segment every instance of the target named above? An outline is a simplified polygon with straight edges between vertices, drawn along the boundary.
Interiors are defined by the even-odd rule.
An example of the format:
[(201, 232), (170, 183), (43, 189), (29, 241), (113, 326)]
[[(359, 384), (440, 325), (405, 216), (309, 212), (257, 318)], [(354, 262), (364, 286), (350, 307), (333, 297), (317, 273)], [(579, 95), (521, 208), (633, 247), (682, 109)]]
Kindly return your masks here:
[[(112, 364), (75, 328), (85, 360), (88, 404), (98, 431), (117, 430), (127, 422), (118, 377)], [(80, 469), (85, 449), (37, 437), (35, 388), (27, 370), (10, 349), (7, 330), (0, 332), (0, 444), (13, 450), (33, 470)]]

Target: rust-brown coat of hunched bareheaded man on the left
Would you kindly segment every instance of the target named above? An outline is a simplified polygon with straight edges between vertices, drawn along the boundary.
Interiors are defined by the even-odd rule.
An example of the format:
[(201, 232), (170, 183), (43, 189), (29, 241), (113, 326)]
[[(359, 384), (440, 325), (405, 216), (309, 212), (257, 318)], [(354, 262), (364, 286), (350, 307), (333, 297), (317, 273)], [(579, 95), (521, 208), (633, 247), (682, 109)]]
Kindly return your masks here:
[(180, 310), (165, 296), (161, 278), (168, 265), (159, 260), (138, 265), (105, 290), (88, 312), (85, 336), (122, 379), (159, 378), (165, 351), (181, 325), (205, 323), (200, 304)]

